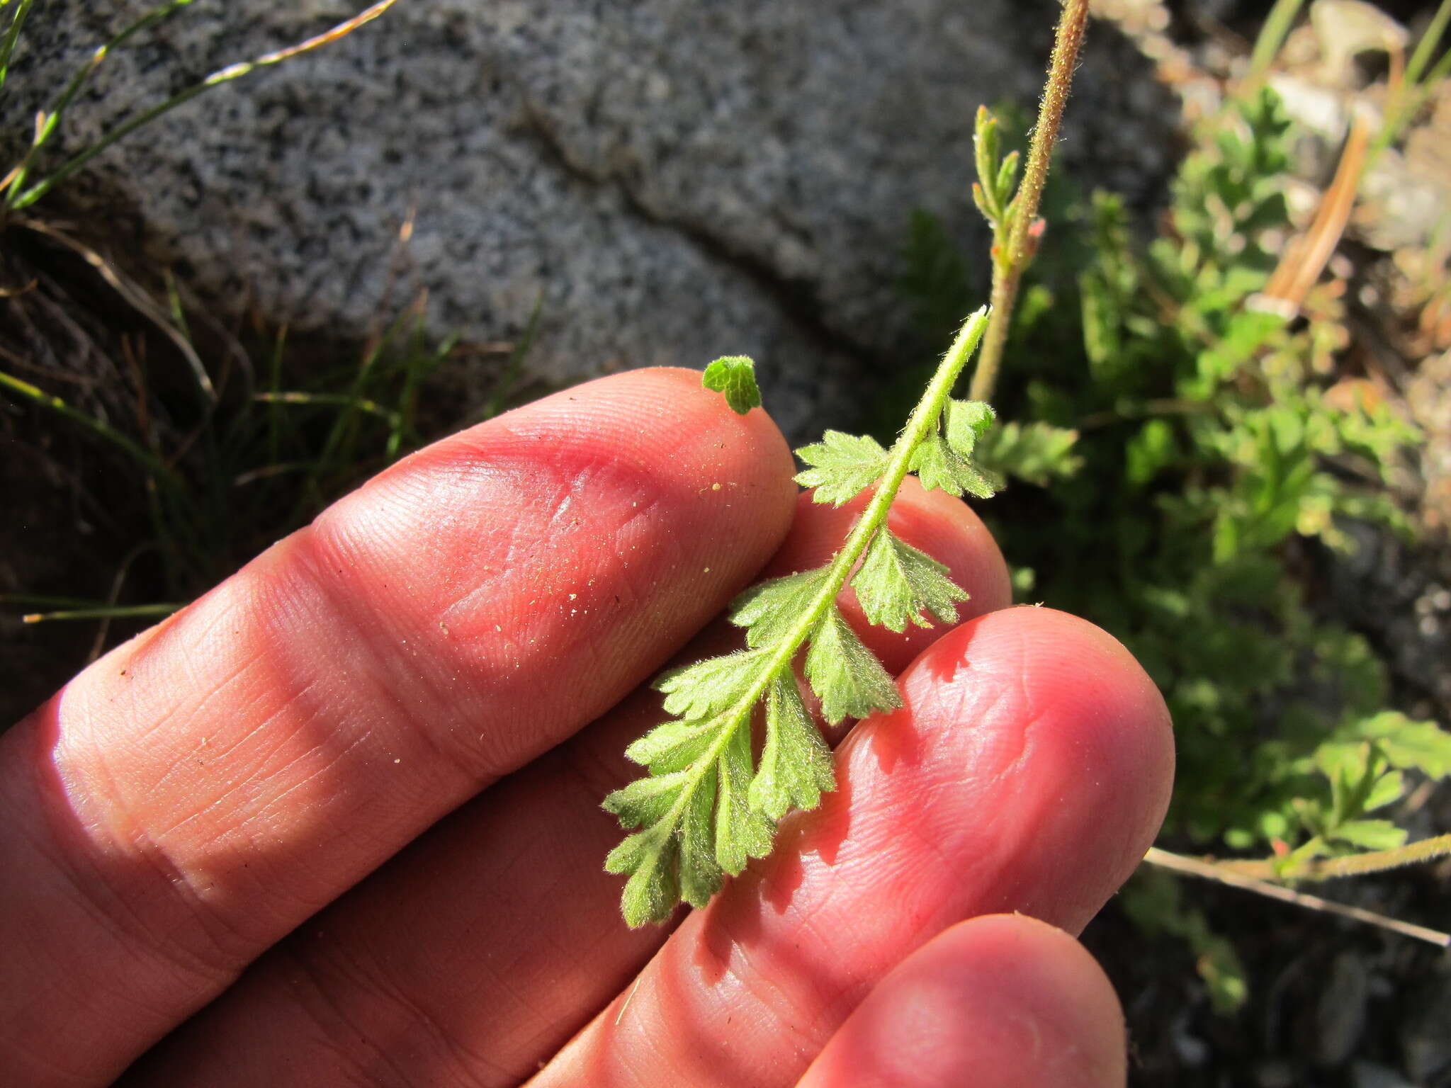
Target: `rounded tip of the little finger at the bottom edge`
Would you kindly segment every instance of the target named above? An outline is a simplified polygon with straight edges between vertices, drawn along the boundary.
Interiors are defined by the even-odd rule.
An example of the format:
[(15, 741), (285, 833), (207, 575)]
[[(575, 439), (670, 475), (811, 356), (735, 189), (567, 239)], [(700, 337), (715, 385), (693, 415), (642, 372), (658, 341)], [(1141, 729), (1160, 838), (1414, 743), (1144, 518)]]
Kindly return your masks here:
[(1122, 1088), (1123, 1039), (1119, 1000), (1082, 944), (994, 914), (898, 963), (798, 1088)]

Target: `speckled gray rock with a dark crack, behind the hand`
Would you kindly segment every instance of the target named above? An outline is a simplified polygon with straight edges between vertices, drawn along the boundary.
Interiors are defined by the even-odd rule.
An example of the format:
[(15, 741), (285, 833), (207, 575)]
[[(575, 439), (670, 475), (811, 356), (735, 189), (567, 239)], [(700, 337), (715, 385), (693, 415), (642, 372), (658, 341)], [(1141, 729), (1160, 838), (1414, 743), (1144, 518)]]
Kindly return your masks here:
[[(749, 353), (791, 429), (840, 418), (904, 361), (913, 207), (966, 235), (979, 102), (1029, 103), (1053, 0), (414, 0), (351, 38), (186, 106), (83, 184), (223, 310), (293, 328), (377, 319), (399, 223), (437, 329), (519, 331), (563, 382)], [(119, 10), (118, 10), (119, 9)], [(135, 3), (51, 0), (4, 103), (28, 118)], [(316, 33), (337, 0), (197, 3), (118, 54), (71, 147), (131, 103)], [(1088, 183), (1156, 186), (1175, 112), (1109, 28), (1065, 152)]]

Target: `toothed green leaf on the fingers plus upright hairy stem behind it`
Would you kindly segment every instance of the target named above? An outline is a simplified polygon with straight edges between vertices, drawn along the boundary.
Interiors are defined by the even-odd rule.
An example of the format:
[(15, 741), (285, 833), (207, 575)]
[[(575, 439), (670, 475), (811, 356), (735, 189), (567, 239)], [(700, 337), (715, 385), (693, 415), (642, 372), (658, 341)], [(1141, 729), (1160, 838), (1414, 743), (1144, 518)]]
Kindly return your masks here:
[[(975, 194), (984, 213), (995, 216), (1000, 279), (994, 300), (1008, 313), (984, 308), (962, 323), (891, 450), (875, 438), (840, 431), (797, 450), (808, 466), (797, 482), (814, 489), (815, 502), (840, 506), (872, 489), (860, 518), (829, 564), (765, 582), (736, 599), (730, 619), (746, 628), (746, 650), (656, 680), (673, 718), (625, 750), (649, 775), (604, 802), (622, 827), (640, 828), (605, 860), (605, 869), (630, 878), (621, 899), (630, 926), (665, 921), (682, 898), (704, 907), (724, 875), (770, 852), (775, 823), (786, 811), (814, 808), (823, 791), (834, 788), (831, 754), (797, 686), (792, 662), (802, 647), (808, 647), (807, 683), (829, 722), (901, 705), (891, 676), (837, 609), (842, 589), (850, 585), (866, 619), (892, 631), (908, 624), (930, 627), (923, 614), (950, 622), (956, 603), (966, 599), (946, 567), (888, 531), (887, 514), (908, 473), (924, 487), (958, 496), (988, 498), (998, 486), (975, 463), (978, 442), (994, 422), (992, 409), (950, 395), (979, 341), (997, 338), (1001, 350), (1017, 279), (1032, 255), (1027, 225), (1036, 221), (1085, 20), (1087, 3), (1069, 0), (1058, 25), (1026, 178), (1016, 193), (1016, 157), (998, 158), (995, 122), (978, 113), (981, 184)], [(981, 358), (974, 389), (991, 387), (994, 373), (995, 361)], [(760, 403), (747, 358), (717, 360), (702, 382), (723, 392), (737, 412)], [(750, 725), (762, 699), (766, 737), (757, 765)]]

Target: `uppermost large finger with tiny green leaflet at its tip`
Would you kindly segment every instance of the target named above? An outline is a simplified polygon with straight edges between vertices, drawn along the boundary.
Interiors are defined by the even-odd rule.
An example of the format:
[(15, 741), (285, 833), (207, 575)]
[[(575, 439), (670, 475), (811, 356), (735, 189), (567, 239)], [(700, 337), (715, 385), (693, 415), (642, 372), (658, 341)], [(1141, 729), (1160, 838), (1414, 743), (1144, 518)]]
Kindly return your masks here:
[(599, 715), (778, 547), (791, 471), (698, 374), (604, 379), (415, 454), (81, 673), (0, 743), (0, 1065), (109, 1079)]

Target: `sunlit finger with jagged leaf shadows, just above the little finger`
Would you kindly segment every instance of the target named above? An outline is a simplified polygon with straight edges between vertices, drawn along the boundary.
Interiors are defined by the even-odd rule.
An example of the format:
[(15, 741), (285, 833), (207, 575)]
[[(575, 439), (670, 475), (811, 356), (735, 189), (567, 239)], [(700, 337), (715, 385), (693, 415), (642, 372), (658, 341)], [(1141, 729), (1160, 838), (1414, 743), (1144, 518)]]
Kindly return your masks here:
[(1168, 802), (1164, 701), (1113, 638), (1039, 608), (963, 624), (842, 746), (840, 788), (685, 918), (546, 1085), (776, 1085), (948, 926), (1023, 911), (1077, 931)]

